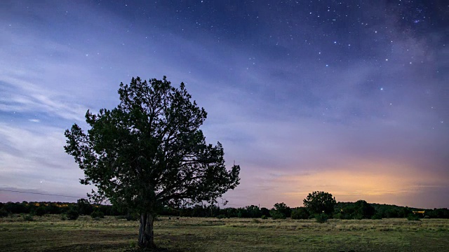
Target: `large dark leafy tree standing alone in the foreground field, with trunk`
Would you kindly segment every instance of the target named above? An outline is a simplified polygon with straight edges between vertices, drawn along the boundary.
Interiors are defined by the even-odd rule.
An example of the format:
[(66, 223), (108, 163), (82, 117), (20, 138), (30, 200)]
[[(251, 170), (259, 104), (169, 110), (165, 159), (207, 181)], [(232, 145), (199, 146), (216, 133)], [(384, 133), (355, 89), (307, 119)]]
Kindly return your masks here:
[(120, 104), (86, 113), (87, 133), (66, 130), (65, 151), (83, 169), (89, 197), (140, 214), (139, 245), (153, 247), (153, 221), (163, 205), (216, 202), (239, 185), (239, 165), (227, 170), (222, 144), (206, 144), (207, 113), (184, 83), (139, 77), (120, 84)]

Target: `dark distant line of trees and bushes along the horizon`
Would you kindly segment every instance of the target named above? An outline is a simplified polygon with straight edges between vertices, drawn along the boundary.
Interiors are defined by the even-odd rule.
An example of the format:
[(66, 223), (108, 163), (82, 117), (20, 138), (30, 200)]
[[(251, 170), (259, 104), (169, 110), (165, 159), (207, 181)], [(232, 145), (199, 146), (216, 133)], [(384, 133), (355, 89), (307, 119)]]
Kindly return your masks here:
[[(250, 205), (247, 207), (220, 208), (215, 204), (196, 204), (189, 207), (160, 207), (159, 216), (181, 217), (215, 217), (215, 218), (274, 218), (274, 219), (309, 219), (326, 220), (340, 219), (380, 219), (380, 218), (449, 218), (449, 209), (417, 209), (399, 207), (390, 204), (370, 204), (365, 200), (357, 202), (335, 202), (330, 193), (310, 193), (303, 202), (304, 207), (288, 207), (281, 202), (270, 209)], [(414, 213), (415, 212), (415, 213)], [(122, 216), (137, 220), (138, 215), (130, 209), (123, 209), (114, 205), (91, 204), (81, 199), (76, 203), (69, 202), (0, 202), (0, 216), (11, 214), (31, 214), (43, 216), (45, 214), (62, 214), (69, 216), (87, 215), (93, 218), (102, 216)]]

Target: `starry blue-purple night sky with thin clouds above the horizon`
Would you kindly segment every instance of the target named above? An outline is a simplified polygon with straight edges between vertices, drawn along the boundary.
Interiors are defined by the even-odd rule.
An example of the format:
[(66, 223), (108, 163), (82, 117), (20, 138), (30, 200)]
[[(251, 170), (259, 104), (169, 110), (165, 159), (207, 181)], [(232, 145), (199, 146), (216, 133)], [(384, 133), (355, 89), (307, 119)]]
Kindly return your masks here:
[(444, 0), (0, 1), (0, 202), (84, 197), (65, 129), (165, 75), (241, 165), (228, 207), (449, 207), (448, 18)]

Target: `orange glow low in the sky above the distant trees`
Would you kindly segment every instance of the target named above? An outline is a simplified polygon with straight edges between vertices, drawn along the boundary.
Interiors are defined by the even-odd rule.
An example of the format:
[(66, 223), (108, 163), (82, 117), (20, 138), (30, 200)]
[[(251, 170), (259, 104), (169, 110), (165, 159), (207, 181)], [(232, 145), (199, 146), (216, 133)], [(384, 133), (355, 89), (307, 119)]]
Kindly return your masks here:
[[(355, 169), (354, 167), (358, 167)], [(347, 169), (322, 170), (300, 176), (279, 176), (274, 183), (282, 188), (286, 202), (298, 202), (316, 190), (337, 202), (366, 200), (379, 204), (406, 204), (422, 188), (444, 186), (445, 178), (422, 169), (395, 164), (358, 164)]]

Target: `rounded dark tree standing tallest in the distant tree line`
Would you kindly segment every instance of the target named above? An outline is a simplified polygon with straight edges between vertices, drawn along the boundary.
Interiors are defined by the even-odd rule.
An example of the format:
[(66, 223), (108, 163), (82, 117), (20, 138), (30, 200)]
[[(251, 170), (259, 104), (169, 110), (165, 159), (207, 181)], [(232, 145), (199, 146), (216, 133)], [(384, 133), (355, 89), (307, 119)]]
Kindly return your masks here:
[(332, 197), (330, 193), (319, 191), (309, 193), (307, 198), (304, 199), (304, 207), (311, 214), (332, 214), (336, 203), (335, 197)]

